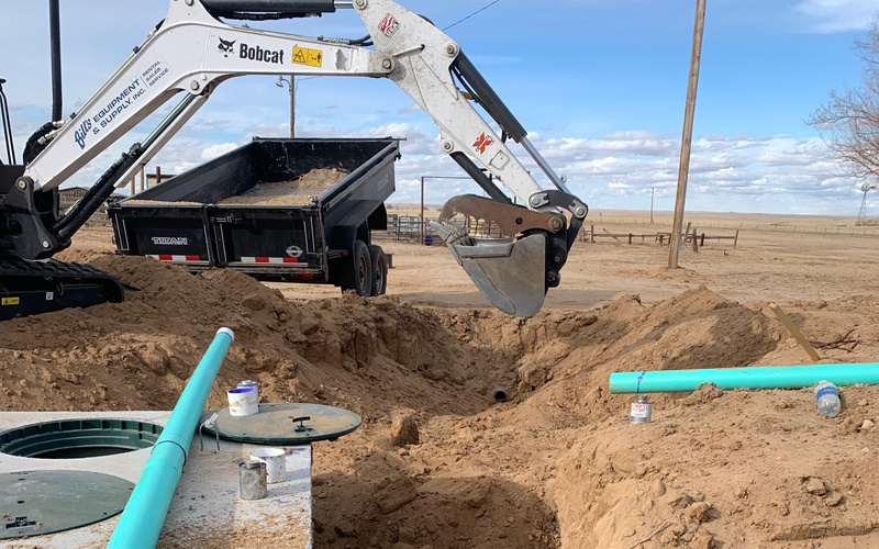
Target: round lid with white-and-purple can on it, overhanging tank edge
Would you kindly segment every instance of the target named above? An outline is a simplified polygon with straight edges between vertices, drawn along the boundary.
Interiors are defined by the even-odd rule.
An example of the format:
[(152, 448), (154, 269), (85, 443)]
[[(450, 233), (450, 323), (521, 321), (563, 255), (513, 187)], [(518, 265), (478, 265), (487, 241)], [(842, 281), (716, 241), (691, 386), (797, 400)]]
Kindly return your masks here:
[(224, 440), (271, 446), (296, 446), (335, 440), (360, 426), (360, 416), (349, 410), (305, 403), (259, 404), (259, 413), (233, 416), (229, 408), (202, 414), (199, 424), (218, 417), (204, 432)]

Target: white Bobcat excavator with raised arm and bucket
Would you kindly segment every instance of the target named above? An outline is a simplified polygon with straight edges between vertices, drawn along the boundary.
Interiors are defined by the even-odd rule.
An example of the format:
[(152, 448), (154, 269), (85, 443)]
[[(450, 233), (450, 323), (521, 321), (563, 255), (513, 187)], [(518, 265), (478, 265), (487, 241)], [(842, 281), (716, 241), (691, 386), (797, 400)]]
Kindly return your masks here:
[[(400, 87), (439, 127), (442, 152), (485, 192), (448, 200), (434, 231), (494, 306), (520, 317), (539, 311), (547, 290), (559, 283), (588, 208), (532, 145), (457, 42), (392, 0), (169, 2), (166, 18), (78, 112), (32, 135), (23, 164), (14, 163), (14, 150), (12, 163), (0, 164), (0, 320), (123, 300), (123, 287), (112, 276), (52, 256), (70, 246), (114, 188), (131, 180), (218, 86), (244, 75), (387, 78)], [(354, 10), (368, 34), (308, 37), (229, 22), (337, 10)], [(58, 186), (175, 97), (181, 99), (155, 130), (59, 212)], [(509, 139), (527, 152), (552, 189), (535, 181), (507, 146)], [(474, 236), (466, 225), (453, 223), (456, 216), (491, 222), (503, 236)]]

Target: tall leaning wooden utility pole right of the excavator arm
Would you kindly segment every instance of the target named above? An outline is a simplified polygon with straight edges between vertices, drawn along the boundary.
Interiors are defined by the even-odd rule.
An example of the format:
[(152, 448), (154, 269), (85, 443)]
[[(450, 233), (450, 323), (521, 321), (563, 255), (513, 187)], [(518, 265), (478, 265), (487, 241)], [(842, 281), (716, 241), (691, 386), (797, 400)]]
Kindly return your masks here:
[(690, 56), (690, 80), (687, 86), (687, 107), (683, 112), (683, 134), (680, 139), (680, 165), (678, 166), (678, 195), (675, 199), (675, 221), (671, 225), (671, 246), (668, 249), (668, 268), (678, 268), (681, 229), (683, 228), (683, 203), (687, 199), (687, 176), (690, 171), (690, 146), (693, 139), (696, 114), (696, 90), (699, 86), (699, 61), (702, 57), (702, 33), (705, 29), (705, 0), (696, 0), (696, 24), (693, 51)]

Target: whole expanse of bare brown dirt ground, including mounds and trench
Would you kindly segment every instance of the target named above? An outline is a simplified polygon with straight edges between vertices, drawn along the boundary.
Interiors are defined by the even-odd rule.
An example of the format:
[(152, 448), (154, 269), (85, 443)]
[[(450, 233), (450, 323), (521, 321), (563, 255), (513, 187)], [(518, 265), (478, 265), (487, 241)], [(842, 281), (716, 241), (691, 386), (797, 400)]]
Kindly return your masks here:
[[(87, 227), (62, 258), (136, 290), (2, 323), (0, 406), (170, 410), (229, 326), (209, 406), (249, 378), (266, 402), (364, 417), (314, 447), (316, 547), (879, 547), (878, 388), (842, 388), (826, 419), (809, 388), (704, 385), (653, 395), (649, 425), (608, 390), (614, 371), (810, 363), (770, 302), (822, 362), (875, 362), (879, 239), (742, 231), (675, 271), (652, 238), (578, 243), (530, 320), (487, 306), (445, 249), (381, 245), (389, 295), (366, 300), (113, 256), (109, 228)], [(416, 444), (392, 442), (402, 418)]]

